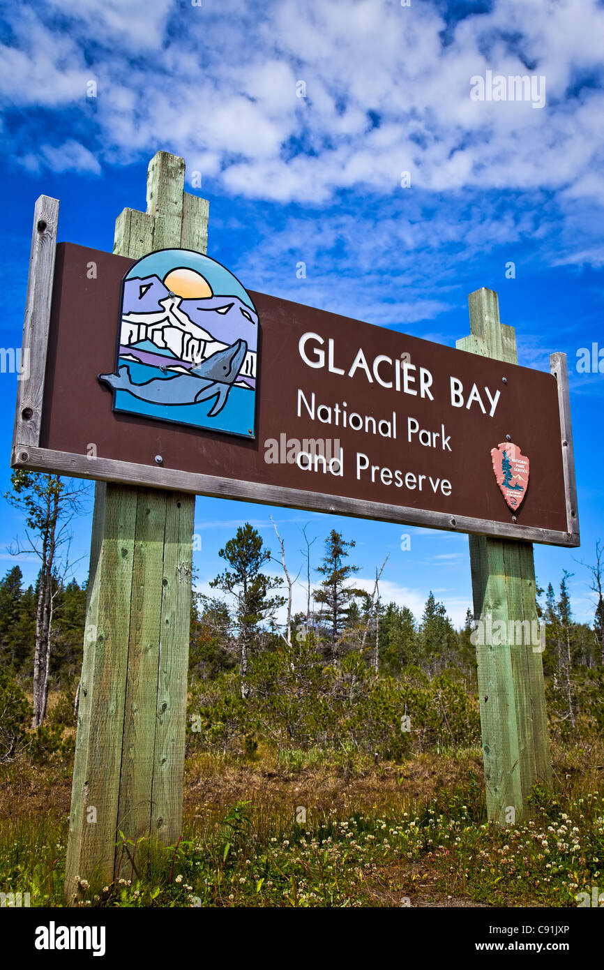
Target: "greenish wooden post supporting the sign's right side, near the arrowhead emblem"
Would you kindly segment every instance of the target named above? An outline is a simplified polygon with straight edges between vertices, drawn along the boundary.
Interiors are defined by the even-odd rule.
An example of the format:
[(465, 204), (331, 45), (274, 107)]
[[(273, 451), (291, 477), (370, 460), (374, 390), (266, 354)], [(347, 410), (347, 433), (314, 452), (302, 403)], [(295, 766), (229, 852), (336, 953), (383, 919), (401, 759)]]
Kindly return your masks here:
[[(517, 364), (515, 331), (499, 321), (497, 294), (483, 287), (468, 302), (470, 336), (457, 346)], [(532, 544), (470, 535), (469, 547), (474, 617), (502, 620), (507, 630), (509, 621), (536, 621)], [(541, 653), (509, 639), (476, 646), (487, 810), (499, 824), (525, 818), (531, 786), (552, 781)]]

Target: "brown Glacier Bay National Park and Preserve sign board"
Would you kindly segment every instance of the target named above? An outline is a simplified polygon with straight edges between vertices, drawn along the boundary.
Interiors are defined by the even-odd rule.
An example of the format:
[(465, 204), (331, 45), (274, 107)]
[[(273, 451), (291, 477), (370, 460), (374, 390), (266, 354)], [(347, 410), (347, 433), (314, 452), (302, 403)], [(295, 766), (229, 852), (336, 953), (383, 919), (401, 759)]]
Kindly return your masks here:
[(579, 544), (563, 355), (545, 373), (242, 287), (218, 299), (185, 257), (135, 270), (128, 297), (134, 260), (57, 246), (14, 467)]

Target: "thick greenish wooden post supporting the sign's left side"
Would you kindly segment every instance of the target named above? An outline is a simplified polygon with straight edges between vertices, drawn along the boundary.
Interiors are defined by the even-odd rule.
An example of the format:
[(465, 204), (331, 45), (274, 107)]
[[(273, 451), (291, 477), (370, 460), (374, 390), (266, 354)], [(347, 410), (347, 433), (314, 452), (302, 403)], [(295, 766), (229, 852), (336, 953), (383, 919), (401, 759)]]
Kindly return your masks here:
[[(115, 222), (116, 253), (207, 251), (205, 199), (183, 192), (184, 160), (151, 159), (147, 210)], [(118, 832), (172, 844), (182, 824), (195, 497), (98, 482), (65, 873), (111, 882)], [(137, 858), (143, 858), (141, 850)], [(127, 857), (123, 864), (129, 871)]]

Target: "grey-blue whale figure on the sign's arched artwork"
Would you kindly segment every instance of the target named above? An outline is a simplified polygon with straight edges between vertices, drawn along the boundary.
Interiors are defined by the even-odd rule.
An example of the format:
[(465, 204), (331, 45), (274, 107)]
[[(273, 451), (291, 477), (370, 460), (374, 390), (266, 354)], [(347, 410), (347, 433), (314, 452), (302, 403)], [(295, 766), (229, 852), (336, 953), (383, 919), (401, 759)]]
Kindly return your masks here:
[(114, 391), (128, 391), (133, 397), (151, 404), (199, 404), (216, 396), (207, 413), (208, 417), (215, 417), (227, 403), (246, 353), (247, 343), (238, 339), (224, 350), (211, 354), (189, 372), (177, 373), (174, 377), (152, 377), (143, 384), (135, 384), (128, 365), (123, 364), (117, 373), (100, 373), (98, 379)]

